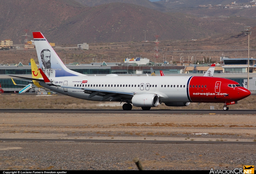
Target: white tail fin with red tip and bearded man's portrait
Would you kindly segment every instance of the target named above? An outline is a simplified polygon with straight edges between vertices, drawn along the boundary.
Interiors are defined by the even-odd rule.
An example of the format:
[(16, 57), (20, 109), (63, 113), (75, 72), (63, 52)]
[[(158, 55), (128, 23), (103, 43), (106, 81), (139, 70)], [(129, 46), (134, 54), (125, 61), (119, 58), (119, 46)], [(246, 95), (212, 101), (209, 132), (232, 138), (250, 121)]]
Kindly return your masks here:
[(33, 32), (39, 68), (47, 77), (84, 76), (68, 69), (41, 32)]

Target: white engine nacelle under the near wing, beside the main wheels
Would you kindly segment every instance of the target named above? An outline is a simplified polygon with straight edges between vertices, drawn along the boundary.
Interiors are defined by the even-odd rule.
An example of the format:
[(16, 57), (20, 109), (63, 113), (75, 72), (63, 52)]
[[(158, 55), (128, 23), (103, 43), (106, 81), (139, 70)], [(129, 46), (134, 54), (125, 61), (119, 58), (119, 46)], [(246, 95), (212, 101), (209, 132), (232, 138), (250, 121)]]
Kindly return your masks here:
[(132, 104), (136, 107), (156, 107), (159, 98), (155, 94), (138, 94), (132, 97)]

